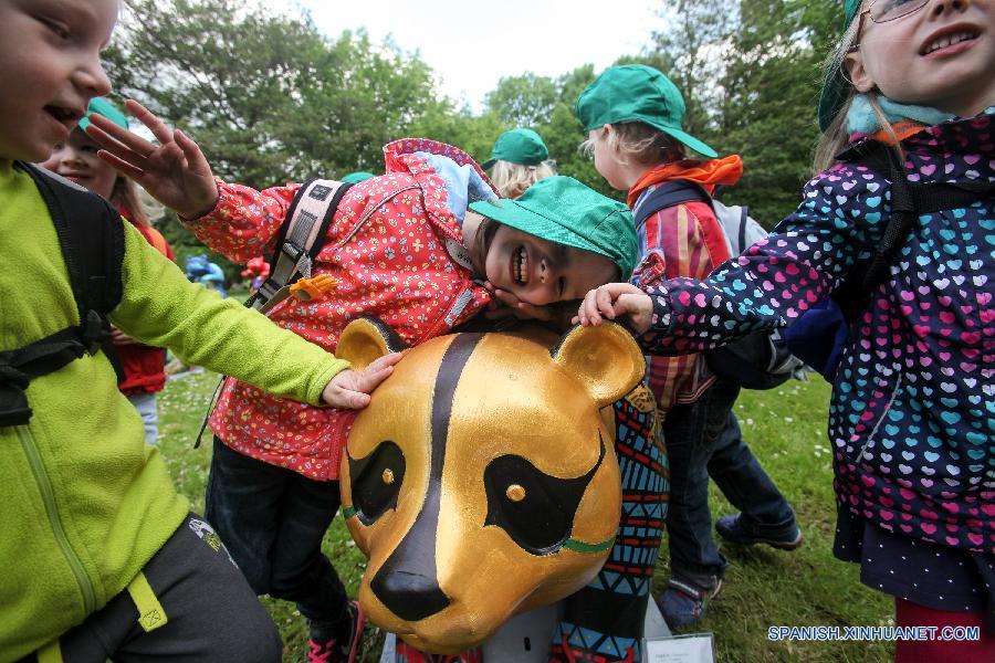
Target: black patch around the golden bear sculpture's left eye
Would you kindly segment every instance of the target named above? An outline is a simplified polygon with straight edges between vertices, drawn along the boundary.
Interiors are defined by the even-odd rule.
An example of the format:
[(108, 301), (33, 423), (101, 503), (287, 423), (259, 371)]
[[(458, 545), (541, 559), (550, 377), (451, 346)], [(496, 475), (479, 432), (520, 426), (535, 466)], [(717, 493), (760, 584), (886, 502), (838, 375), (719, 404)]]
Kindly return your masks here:
[(397, 508), (405, 482), (405, 454), (395, 442), (385, 440), (366, 457), (349, 457), (349, 476), (356, 516), (371, 525), (387, 509)]

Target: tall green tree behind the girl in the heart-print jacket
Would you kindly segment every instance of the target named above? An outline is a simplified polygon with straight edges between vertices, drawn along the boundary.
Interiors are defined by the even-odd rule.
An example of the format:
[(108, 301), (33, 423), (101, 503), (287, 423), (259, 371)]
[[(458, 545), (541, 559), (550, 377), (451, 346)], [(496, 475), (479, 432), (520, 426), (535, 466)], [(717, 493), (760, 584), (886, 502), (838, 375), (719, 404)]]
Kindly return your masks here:
[(820, 0), (681, 0), (643, 60), (684, 94), (685, 128), (745, 172), (726, 197), (767, 228), (790, 212), (818, 139), (820, 63), (841, 15)]

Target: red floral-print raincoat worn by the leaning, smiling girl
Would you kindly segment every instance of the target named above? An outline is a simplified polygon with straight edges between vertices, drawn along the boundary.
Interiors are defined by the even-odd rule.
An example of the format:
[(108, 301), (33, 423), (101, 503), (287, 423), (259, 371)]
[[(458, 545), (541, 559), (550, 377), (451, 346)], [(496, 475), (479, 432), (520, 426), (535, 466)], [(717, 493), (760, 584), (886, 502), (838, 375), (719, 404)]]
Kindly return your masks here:
[[(314, 262), (313, 274), (334, 276), (336, 287), (310, 302), (290, 297), (270, 312), (277, 325), (329, 351), (359, 316), (375, 316), (417, 345), (446, 334), (490, 301), (490, 293), (447, 252), (447, 240), (462, 242), (460, 220), (447, 206), (446, 182), (413, 152), (470, 165), (489, 182), (486, 176), (462, 150), (431, 140), (398, 140), (384, 151), (387, 173), (349, 189)], [(255, 191), (219, 181), (217, 207), (189, 228), (235, 262), (270, 255), (298, 188)], [(338, 478), (355, 414), (271, 397), (229, 379), (210, 425), (239, 453), (329, 481)]]

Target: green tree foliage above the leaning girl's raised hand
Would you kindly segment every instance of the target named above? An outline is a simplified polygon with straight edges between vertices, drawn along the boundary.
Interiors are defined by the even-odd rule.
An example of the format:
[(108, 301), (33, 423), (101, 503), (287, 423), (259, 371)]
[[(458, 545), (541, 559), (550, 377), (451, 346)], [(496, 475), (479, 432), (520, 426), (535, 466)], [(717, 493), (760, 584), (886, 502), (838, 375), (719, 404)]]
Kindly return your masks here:
[(365, 33), (325, 38), (307, 15), (239, 0), (130, 0), (106, 56), (117, 91), (254, 187), (374, 170), (380, 147), (437, 110), (431, 70)]

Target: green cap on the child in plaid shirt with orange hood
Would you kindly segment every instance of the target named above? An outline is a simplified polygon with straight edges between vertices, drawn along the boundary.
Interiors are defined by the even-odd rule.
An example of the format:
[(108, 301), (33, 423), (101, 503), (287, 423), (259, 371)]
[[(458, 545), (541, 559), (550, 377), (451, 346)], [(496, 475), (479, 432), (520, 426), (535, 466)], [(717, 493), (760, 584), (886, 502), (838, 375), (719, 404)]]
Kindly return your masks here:
[(681, 129), (684, 97), (670, 78), (645, 64), (622, 64), (601, 72), (577, 98), (574, 112), (584, 133), (606, 124), (642, 122), (714, 159), (714, 149)]

